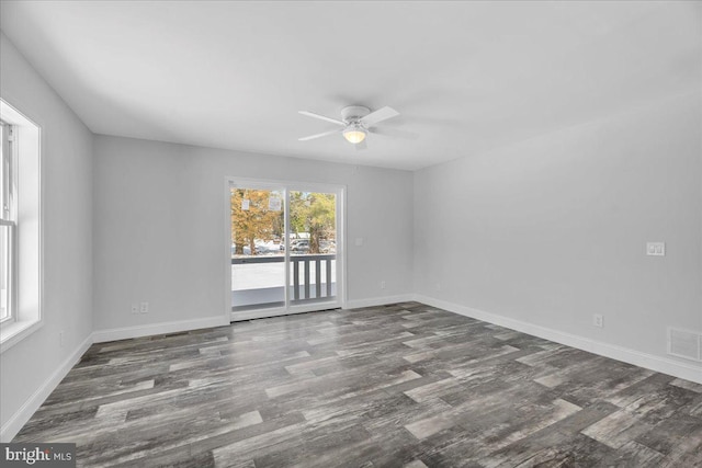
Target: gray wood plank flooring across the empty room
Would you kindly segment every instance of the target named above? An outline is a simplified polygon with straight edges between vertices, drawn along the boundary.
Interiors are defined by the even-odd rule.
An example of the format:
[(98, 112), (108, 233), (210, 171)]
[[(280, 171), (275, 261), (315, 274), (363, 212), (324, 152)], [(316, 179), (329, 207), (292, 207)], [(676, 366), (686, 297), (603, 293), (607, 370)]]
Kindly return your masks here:
[(702, 386), (417, 303), (93, 345), (78, 466), (702, 467)]

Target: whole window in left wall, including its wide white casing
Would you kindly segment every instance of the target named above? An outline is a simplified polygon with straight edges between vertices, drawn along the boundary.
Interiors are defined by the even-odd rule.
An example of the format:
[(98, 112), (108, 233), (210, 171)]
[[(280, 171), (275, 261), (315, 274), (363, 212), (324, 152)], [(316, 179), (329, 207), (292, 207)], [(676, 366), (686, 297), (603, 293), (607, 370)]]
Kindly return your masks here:
[(0, 99), (0, 352), (42, 327), (41, 129)]

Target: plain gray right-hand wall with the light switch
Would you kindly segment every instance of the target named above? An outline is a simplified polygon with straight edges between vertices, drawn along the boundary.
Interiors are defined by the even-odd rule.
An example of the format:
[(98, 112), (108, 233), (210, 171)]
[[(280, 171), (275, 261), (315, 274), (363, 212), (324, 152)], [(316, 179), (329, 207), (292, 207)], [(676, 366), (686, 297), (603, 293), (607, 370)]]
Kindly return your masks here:
[(416, 292), (666, 356), (668, 326), (702, 331), (701, 111), (672, 98), (416, 172)]

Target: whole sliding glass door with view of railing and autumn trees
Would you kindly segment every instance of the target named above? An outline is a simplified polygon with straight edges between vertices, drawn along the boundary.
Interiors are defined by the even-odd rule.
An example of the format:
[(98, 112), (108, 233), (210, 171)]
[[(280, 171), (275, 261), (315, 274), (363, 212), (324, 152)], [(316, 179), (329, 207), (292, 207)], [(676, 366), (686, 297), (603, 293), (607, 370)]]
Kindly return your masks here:
[(231, 319), (341, 306), (342, 187), (231, 180)]

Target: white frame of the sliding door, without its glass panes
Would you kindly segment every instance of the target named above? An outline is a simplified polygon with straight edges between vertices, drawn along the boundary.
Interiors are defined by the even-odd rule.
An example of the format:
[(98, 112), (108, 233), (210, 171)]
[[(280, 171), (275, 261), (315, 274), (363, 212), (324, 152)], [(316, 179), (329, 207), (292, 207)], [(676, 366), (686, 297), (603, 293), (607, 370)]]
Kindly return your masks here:
[[(230, 187), (247, 187), (256, 190), (279, 190), (285, 194), (283, 215), (285, 226), (285, 305), (283, 307), (261, 307), (246, 311), (231, 311), (231, 195)], [(276, 317), (292, 313), (304, 313), (314, 310), (347, 307), (347, 249), (346, 249), (346, 185), (324, 184), (316, 182), (298, 182), (287, 180), (250, 179), (250, 178), (225, 178), (225, 229), (224, 244), (226, 259), (225, 281), (226, 281), (226, 317), (229, 321), (250, 320), (263, 317)], [(316, 192), (333, 193), (336, 195), (336, 242), (337, 242), (337, 298), (333, 301), (320, 301), (314, 304), (292, 305), (290, 300), (290, 193), (291, 192)], [(339, 277), (340, 276), (340, 277)]]

